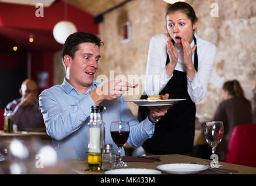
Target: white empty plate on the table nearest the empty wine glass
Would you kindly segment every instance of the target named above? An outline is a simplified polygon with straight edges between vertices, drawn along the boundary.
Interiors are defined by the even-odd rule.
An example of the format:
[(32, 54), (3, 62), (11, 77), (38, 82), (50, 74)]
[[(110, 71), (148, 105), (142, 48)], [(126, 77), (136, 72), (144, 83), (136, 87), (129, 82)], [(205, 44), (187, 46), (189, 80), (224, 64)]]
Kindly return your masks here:
[(157, 169), (171, 174), (194, 174), (208, 169), (207, 166), (202, 164), (192, 163), (171, 163), (162, 164), (156, 167)]

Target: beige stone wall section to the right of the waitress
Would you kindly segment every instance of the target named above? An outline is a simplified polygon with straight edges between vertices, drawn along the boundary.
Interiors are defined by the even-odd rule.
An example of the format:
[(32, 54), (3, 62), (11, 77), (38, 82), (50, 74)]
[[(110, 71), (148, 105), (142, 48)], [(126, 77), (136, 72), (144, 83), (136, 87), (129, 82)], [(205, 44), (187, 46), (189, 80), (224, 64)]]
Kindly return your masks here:
[[(208, 85), (208, 94), (197, 103), (199, 115), (214, 115), (222, 101), (225, 81), (237, 79), (250, 99), (256, 122), (256, 2), (253, 0), (189, 1), (194, 7), (200, 37), (217, 47), (215, 66)], [(219, 17), (211, 17), (211, 3), (218, 3)]]

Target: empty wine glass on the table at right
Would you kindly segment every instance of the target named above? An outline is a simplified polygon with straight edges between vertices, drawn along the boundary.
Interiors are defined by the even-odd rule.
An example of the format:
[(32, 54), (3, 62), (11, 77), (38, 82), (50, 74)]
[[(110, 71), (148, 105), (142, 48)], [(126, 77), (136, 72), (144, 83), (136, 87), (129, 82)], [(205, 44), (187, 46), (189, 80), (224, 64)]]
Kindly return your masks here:
[[(222, 164), (218, 163), (218, 155), (216, 155), (216, 147), (219, 145), (220, 141), (222, 141), (224, 127), (222, 121), (209, 121), (203, 124), (203, 130), (205, 134), (205, 140), (212, 148), (211, 159), (211, 167), (221, 167)], [(216, 160), (217, 158), (217, 160)]]

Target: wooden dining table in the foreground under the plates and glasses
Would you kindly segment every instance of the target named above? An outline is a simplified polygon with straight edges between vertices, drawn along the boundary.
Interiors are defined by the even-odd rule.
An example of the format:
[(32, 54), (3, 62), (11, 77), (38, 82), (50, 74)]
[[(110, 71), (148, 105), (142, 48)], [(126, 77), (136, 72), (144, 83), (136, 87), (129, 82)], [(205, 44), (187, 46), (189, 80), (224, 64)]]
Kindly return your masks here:
[[(211, 160), (194, 158), (191, 156), (184, 155), (160, 155), (161, 162), (127, 162), (129, 164), (126, 168), (142, 168), (142, 169), (156, 169), (160, 164), (167, 163), (197, 163), (197, 164), (207, 164)], [(36, 168), (36, 162), (38, 159), (24, 160), (24, 165), (27, 167), (27, 171), (24, 174), (98, 174), (98, 176), (103, 176), (104, 172), (96, 171), (85, 171), (87, 167), (87, 159), (75, 159), (75, 160), (65, 160), (58, 161), (56, 164), (50, 167), (44, 167), (43, 169)], [(12, 162), (0, 162), (0, 170), (3, 174), (10, 174), (9, 165)], [(237, 173), (234, 174), (256, 174), (255, 167), (241, 166), (237, 164), (220, 162), (223, 164), (223, 169), (236, 170)], [(210, 172), (210, 173), (209, 173)], [(166, 174), (166, 173), (162, 173)], [(208, 173), (199, 174), (218, 174), (213, 171), (208, 171)], [(95, 177), (91, 177), (95, 178)]]

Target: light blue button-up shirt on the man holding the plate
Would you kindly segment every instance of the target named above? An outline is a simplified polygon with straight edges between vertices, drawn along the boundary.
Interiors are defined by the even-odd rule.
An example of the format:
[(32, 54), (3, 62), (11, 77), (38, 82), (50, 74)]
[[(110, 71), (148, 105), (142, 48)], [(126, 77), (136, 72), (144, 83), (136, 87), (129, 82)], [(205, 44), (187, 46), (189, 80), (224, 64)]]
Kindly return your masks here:
[[(89, 93), (100, 84), (101, 82), (93, 81), (92, 88), (86, 94), (81, 94), (64, 78), (61, 85), (48, 88), (39, 95), (47, 134), (52, 137), (59, 159), (86, 158), (87, 123), (90, 120), (90, 108), (95, 105)], [(131, 146), (141, 146), (146, 139), (153, 136), (155, 126), (148, 117), (139, 123), (124, 102), (124, 96), (114, 101), (104, 100), (100, 105), (106, 107), (103, 113), (103, 121), (106, 123), (106, 144), (113, 144), (114, 153), (118, 153), (118, 148), (110, 135), (111, 121), (129, 122), (128, 143)]]

